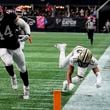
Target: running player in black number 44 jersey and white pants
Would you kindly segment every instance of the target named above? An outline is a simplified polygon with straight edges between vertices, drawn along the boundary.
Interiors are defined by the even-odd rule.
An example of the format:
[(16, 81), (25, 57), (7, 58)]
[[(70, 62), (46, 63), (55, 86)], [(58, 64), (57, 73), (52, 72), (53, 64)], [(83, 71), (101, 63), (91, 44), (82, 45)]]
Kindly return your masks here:
[(0, 58), (11, 78), (13, 89), (17, 89), (17, 78), (13, 69), (13, 61), (19, 68), (20, 77), (23, 81), (23, 99), (29, 99), (29, 79), (25, 65), (25, 56), (20, 48), (16, 27), (20, 26), (26, 33), (21, 41), (30, 39), (30, 27), (14, 13), (6, 13), (0, 6)]

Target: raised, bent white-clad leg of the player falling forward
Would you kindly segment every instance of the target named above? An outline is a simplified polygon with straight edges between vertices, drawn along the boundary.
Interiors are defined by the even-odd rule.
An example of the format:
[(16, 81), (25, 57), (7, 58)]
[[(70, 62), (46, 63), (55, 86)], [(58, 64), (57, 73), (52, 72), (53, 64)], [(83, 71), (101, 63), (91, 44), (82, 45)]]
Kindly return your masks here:
[(68, 54), (68, 56), (65, 56), (65, 49), (67, 44), (56, 44), (55, 47), (59, 49), (60, 55), (59, 55), (59, 68), (64, 68), (69, 63), (69, 58), (72, 56), (72, 52)]

